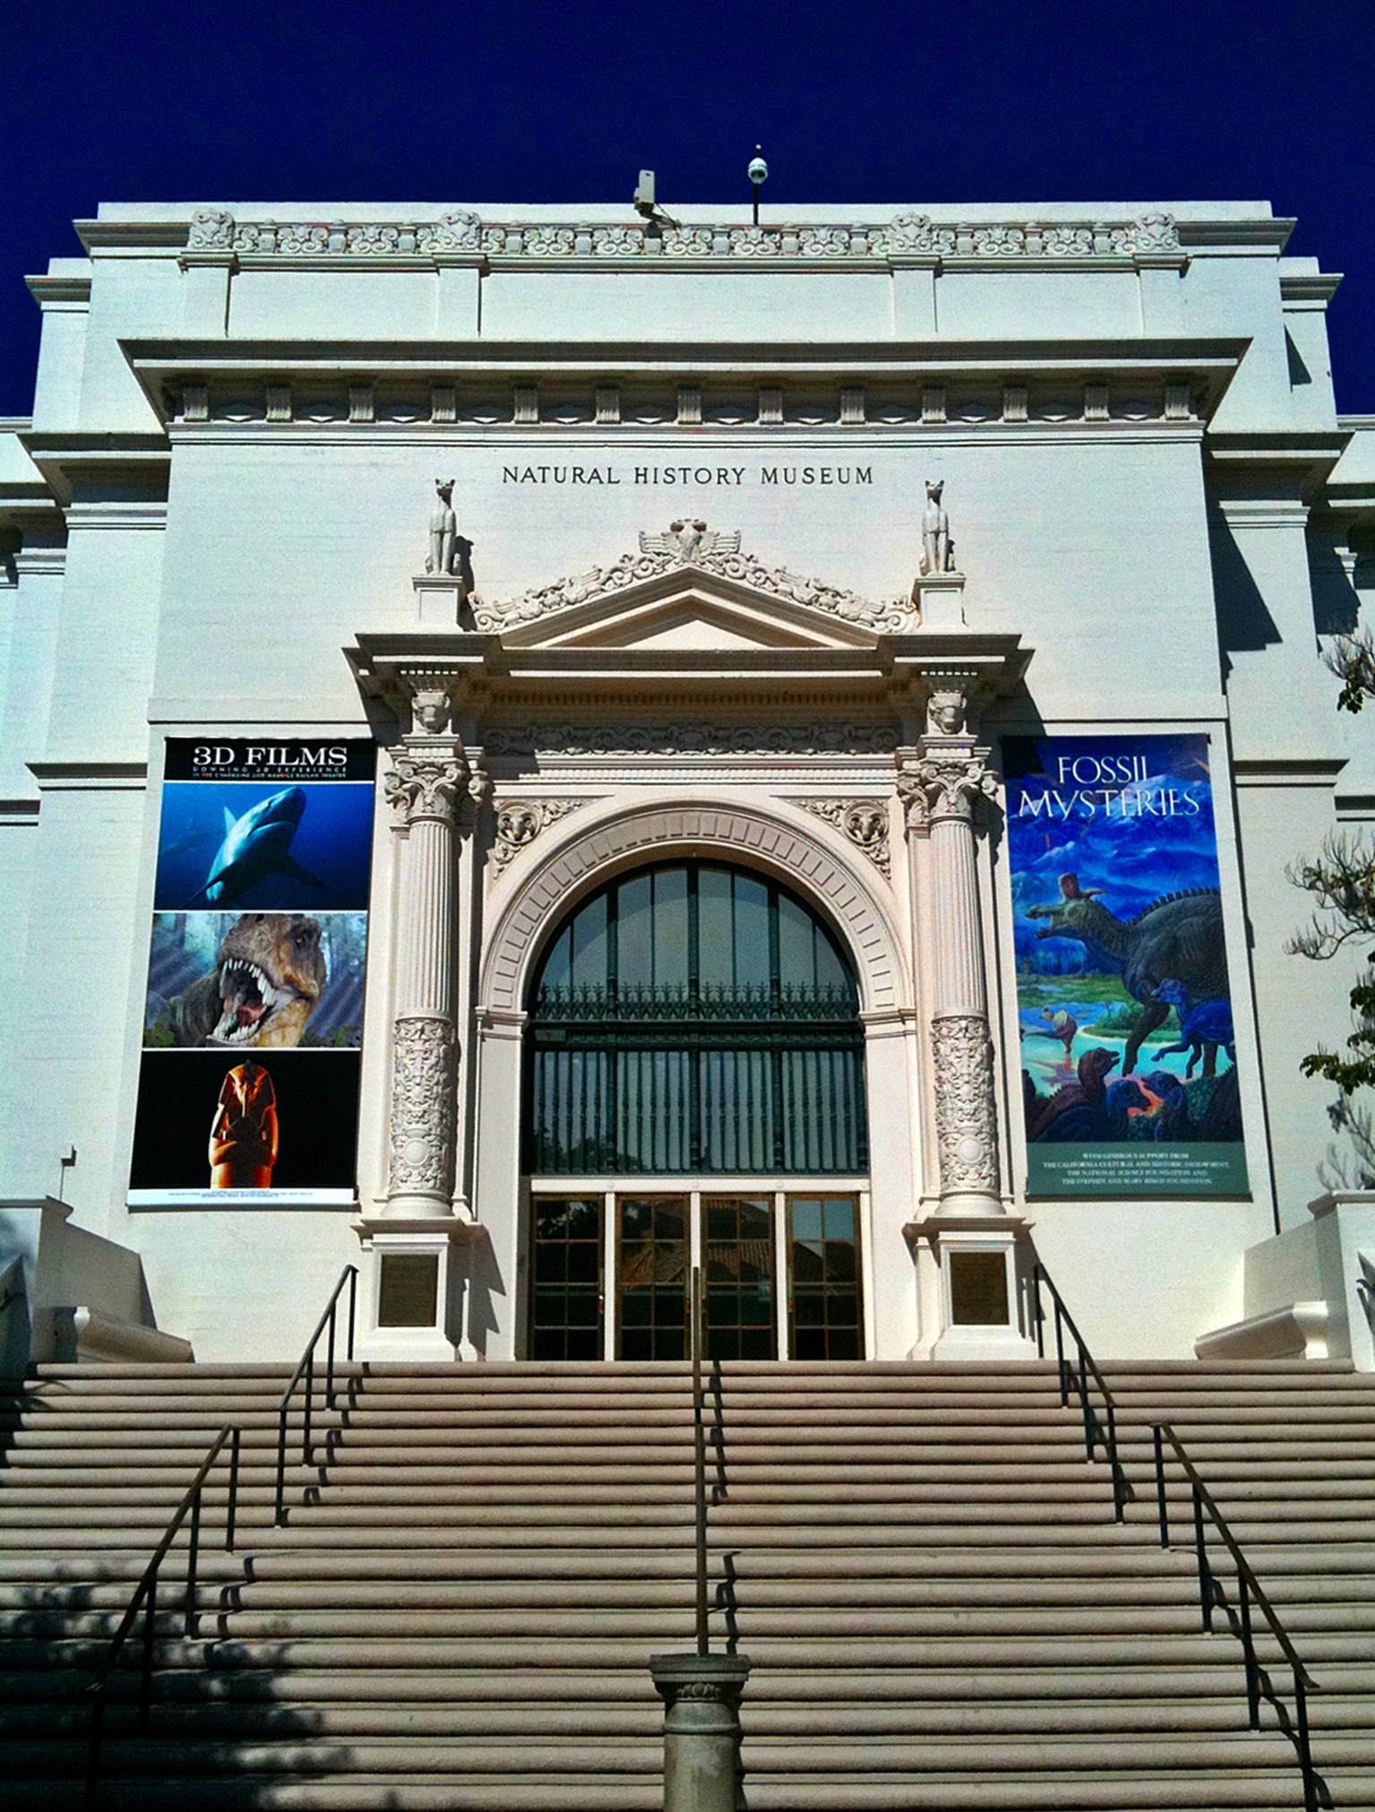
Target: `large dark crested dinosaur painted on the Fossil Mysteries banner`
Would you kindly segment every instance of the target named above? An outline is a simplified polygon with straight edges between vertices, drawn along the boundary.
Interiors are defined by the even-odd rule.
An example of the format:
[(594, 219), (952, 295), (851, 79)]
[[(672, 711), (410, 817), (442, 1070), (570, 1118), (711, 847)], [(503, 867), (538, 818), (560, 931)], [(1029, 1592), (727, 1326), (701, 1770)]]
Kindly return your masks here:
[(1103, 906), (1101, 888), (1082, 888), (1078, 875), (1060, 877), (1060, 899), (1029, 906), (1029, 919), (1045, 919), (1036, 937), (1074, 937), (1100, 969), (1121, 975), (1141, 1002), (1141, 1018), (1127, 1038), (1121, 1073), (1130, 1075), (1150, 1033), (1170, 1015), (1159, 986), (1176, 980), (1190, 1006), (1228, 997), (1223, 901), (1216, 888), (1167, 893), (1134, 919), (1118, 919)]

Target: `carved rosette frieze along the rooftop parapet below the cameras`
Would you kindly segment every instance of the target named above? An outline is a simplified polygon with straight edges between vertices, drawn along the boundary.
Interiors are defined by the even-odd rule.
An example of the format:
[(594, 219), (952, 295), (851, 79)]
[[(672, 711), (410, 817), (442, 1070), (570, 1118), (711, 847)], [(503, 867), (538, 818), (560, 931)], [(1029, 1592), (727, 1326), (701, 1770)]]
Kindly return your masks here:
[(239, 257), (442, 257), (607, 259), (676, 263), (746, 259), (775, 263), (904, 263), (989, 259), (1051, 263), (1183, 255), (1168, 214), (1116, 221), (933, 221), (900, 214), (888, 223), (779, 226), (678, 226), (661, 223), (482, 221), (455, 208), (435, 221), (236, 221), (225, 208), (199, 208), (187, 252)]

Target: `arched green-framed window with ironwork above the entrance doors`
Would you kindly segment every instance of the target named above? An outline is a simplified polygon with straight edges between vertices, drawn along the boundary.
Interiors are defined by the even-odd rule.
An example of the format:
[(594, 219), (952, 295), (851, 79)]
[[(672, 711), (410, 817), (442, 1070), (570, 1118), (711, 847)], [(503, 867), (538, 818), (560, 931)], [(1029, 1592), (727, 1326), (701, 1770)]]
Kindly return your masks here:
[(560, 926), (529, 998), (534, 1176), (855, 1176), (868, 1167), (855, 977), (777, 882), (636, 870)]

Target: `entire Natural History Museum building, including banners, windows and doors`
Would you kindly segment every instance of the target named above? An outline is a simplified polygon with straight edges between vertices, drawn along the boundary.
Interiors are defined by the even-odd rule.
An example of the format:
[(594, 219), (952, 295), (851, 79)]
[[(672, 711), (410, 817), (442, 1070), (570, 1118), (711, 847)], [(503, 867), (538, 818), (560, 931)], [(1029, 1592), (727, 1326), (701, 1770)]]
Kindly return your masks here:
[[(111, 207), (0, 422), (31, 1357), (1371, 1368), (1375, 422), (1254, 203)], [(1332, 1180), (1332, 1178), (1330, 1178)], [(20, 1339), (7, 1334), (11, 1345)], [(22, 1357), (18, 1352), (13, 1357)]]

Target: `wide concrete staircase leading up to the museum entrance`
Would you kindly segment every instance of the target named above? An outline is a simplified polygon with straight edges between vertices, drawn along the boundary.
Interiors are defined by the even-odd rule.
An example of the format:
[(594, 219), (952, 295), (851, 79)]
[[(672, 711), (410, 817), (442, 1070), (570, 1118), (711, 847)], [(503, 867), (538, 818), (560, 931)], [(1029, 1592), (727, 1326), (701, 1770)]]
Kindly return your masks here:
[[(290, 1468), (284, 1529), (284, 1368), (45, 1366), (11, 1399), (0, 1778), (25, 1812), (82, 1805), (83, 1689), (225, 1422), (245, 1430), (237, 1553), (214, 1546), (221, 1471), (194, 1640), (183, 1544), (163, 1569), (147, 1736), (125, 1647), (103, 1808), (661, 1803), (647, 1658), (692, 1647), (687, 1368), (350, 1372), (351, 1401), (317, 1399), (330, 1459)], [(723, 1368), (712, 1622), (755, 1667), (752, 1808), (1299, 1808), (1275, 1709), (1246, 1729), (1239, 1642), (1221, 1616), (1201, 1631), (1192, 1544), (1159, 1549), (1152, 1419), (1321, 1685), (1332, 1801), (1375, 1807), (1375, 1379), (1141, 1364), (1109, 1383), (1125, 1526), (1049, 1364)], [(1288, 1703), (1268, 1633), (1259, 1649)]]

